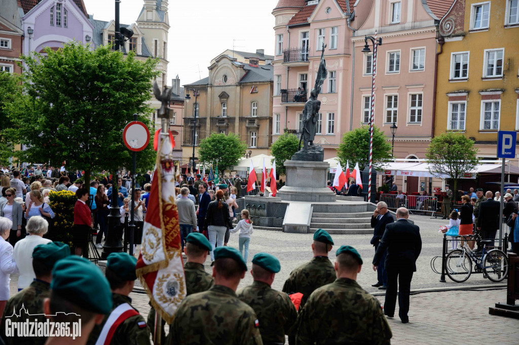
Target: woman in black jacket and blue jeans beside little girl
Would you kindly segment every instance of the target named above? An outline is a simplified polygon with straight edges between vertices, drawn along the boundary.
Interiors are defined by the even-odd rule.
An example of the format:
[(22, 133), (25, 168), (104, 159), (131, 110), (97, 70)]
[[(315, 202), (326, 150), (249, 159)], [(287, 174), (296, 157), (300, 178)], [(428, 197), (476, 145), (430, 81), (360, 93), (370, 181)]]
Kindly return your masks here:
[[(225, 203), (224, 192), (216, 191), (216, 199), (209, 203), (207, 208), (206, 221), (203, 224), (207, 230), (211, 246), (223, 246), (227, 228), (233, 228), (233, 223), (229, 217), (229, 206)], [(211, 251), (211, 261), (214, 261), (214, 254)]]

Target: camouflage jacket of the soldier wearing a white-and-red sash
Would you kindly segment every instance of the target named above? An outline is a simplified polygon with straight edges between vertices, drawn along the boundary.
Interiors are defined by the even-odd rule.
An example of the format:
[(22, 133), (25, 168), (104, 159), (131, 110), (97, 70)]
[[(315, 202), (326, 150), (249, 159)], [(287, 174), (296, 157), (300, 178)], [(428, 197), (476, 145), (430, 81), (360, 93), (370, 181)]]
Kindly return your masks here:
[[(131, 306), (131, 298), (128, 296), (112, 293), (112, 302), (113, 307), (112, 310), (117, 308), (123, 303), (128, 303)], [(132, 306), (133, 308), (133, 306)], [(135, 308), (133, 308), (135, 309)], [(135, 311), (139, 312), (139, 310), (135, 309)], [(90, 337), (88, 338), (87, 344), (95, 344), (98, 340), (99, 335), (101, 334), (101, 330), (103, 329), (106, 320), (110, 314), (106, 314), (103, 322), (99, 325), (95, 325), (92, 329), (92, 333), (90, 333)], [(117, 328), (115, 329), (115, 333), (112, 337), (111, 345), (151, 345), (149, 328), (144, 322), (144, 324), (139, 325), (139, 322), (144, 322), (144, 318), (142, 315), (134, 315), (129, 317), (125, 321), (123, 321)]]

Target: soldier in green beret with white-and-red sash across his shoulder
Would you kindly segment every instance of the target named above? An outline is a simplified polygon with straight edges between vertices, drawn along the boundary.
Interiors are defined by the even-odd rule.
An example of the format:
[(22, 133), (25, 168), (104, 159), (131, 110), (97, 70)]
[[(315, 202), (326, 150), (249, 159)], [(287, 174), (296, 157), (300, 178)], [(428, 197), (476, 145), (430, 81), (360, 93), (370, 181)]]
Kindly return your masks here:
[[(106, 258), (105, 275), (112, 290), (112, 311), (126, 303), (136, 312), (115, 328), (112, 339), (109, 341), (111, 345), (151, 345), (149, 328), (139, 311), (131, 306), (131, 298), (128, 297), (133, 290), (135, 279), (137, 279), (136, 265), (137, 259), (125, 252), (112, 253)], [(103, 327), (110, 329), (112, 325), (106, 325), (109, 317), (110, 314), (105, 315), (103, 322), (94, 328), (88, 339), (89, 344), (95, 344), (98, 341)]]

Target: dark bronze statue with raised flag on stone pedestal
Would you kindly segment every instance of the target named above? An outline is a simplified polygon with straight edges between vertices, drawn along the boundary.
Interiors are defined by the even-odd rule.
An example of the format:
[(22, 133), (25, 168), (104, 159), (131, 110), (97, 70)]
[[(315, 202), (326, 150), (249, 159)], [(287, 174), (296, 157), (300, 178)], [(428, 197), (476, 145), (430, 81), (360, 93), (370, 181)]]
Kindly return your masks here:
[[(293, 161), (324, 160), (323, 148), (320, 145), (313, 145), (316, 136), (317, 114), (321, 108), (321, 101), (317, 99), (317, 96), (321, 92), (322, 84), (328, 74), (326, 61), (324, 61), (324, 48), (326, 48), (325, 44), (323, 44), (321, 50), (321, 62), (319, 63), (315, 86), (310, 92), (310, 97), (308, 97), (303, 109), (303, 128), (301, 139), (299, 139), (299, 151), (292, 156)], [(301, 148), (301, 141), (303, 141), (303, 148)]]

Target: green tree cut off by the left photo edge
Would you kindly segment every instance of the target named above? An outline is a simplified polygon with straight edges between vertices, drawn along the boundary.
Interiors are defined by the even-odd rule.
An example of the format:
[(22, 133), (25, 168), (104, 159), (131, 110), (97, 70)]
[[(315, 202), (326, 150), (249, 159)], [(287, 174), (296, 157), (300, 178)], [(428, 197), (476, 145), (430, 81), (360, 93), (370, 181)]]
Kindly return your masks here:
[(0, 95), (2, 95), (0, 97), (0, 164), (7, 165), (12, 155), (12, 145), (2, 133), (12, 127), (9, 114), (22, 102), (21, 76), (1, 71)]

